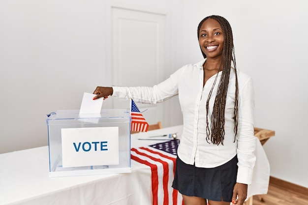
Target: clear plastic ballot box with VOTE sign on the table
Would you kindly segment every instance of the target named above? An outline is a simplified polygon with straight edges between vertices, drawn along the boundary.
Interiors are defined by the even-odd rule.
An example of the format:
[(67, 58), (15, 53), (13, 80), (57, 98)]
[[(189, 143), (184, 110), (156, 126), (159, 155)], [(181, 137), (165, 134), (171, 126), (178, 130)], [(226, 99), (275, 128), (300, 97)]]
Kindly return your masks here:
[(125, 109), (48, 115), (49, 176), (130, 173), (130, 120)]

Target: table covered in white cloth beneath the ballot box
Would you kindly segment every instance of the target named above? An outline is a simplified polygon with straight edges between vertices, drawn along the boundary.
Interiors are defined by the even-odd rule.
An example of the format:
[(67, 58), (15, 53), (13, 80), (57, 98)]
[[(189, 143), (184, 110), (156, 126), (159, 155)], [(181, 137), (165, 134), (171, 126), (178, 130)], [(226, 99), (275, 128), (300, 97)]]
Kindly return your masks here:
[[(177, 132), (180, 136), (182, 129), (179, 125), (148, 133)], [(132, 147), (164, 142), (137, 138), (138, 134), (131, 135)], [(259, 157), (253, 180), (257, 186), (255, 190), (248, 187), (248, 197), (265, 194), (264, 187), (266, 192), (268, 187), (268, 161), (256, 141)], [(48, 146), (0, 154), (0, 205), (152, 205), (151, 169), (132, 160), (131, 170), (126, 174), (49, 177)]]

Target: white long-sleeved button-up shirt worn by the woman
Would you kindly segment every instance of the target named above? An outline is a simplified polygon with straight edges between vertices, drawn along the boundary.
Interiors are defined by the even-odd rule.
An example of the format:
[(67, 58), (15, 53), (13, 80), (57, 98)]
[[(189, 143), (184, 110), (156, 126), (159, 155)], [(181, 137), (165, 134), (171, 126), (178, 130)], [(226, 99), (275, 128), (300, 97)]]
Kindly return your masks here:
[[(206, 138), (206, 101), (216, 75), (203, 86), (203, 64), (206, 59), (178, 69), (167, 80), (154, 87), (113, 87), (115, 97), (132, 98), (135, 102), (155, 104), (179, 95), (184, 130), (178, 148), (179, 158), (196, 167), (213, 168), (238, 157), (237, 182), (251, 184), (255, 163), (255, 137), (253, 132), (254, 91), (252, 79), (237, 71), (239, 88), (238, 135), (234, 142), (235, 70), (231, 68), (225, 107), (225, 136), (223, 145), (214, 145)], [(208, 121), (211, 115), (221, 72), (209, 101)]]

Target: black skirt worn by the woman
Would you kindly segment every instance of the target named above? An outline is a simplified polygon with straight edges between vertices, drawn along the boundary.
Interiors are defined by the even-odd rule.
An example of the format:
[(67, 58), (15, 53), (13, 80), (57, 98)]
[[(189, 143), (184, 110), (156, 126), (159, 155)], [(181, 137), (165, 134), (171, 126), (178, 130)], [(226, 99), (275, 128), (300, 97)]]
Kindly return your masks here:
[(172, 187), (185, 196), (195, 196), (212, 201), (231, 202), (236, 183), (238, 158), (215, 168), (199, 168), (185, 164), (177, 157)]

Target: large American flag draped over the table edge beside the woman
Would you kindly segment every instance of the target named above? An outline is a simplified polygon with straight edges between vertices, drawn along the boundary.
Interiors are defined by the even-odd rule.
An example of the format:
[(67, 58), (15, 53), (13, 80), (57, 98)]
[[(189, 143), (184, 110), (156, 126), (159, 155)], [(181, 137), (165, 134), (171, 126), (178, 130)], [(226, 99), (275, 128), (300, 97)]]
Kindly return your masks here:
[(184, 205), (182, 195), (171, 187), (180, 140), (131, 149), (131, 159), (148, 165), (152, 173), (153, 205)]

